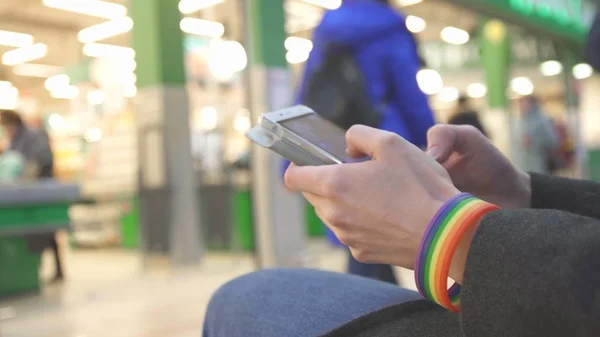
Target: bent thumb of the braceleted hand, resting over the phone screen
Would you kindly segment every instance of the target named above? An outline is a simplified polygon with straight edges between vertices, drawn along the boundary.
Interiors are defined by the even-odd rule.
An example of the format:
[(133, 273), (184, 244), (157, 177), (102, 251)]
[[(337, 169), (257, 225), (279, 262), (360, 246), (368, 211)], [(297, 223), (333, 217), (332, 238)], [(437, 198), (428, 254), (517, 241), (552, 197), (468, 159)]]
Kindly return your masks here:
[(401, 142), (402, 138), (394, 133), (364, 125), (355, 125), (346, 132), (348, 154), (355, 158), (362, 156), (380, 157), (382, 150), (388, 145)]

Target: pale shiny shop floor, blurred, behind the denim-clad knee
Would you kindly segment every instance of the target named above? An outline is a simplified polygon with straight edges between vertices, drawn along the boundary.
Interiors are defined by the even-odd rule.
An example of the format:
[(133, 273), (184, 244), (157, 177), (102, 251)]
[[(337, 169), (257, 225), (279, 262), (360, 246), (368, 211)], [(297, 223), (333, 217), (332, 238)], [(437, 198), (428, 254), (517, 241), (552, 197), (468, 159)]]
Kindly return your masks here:
[[(311, 267), (345, 266), (343, 251), (320, 242), (309, 256)], [(199, 337), (211, 294), (254, 270), (249, 255), (211, 254), (198, 268), (142, 273), (137, 254), (122, 250), (72, 252), (66, 263), (64, 284), (0, 302), (1, 337)]]

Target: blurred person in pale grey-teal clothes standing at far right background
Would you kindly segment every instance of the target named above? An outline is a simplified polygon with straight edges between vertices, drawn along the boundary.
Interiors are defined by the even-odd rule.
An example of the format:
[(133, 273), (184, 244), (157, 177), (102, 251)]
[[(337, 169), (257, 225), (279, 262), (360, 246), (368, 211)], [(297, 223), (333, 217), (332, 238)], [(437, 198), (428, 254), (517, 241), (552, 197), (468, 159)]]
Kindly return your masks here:
[(521, 110), (521, 168), (528, 172), (550, 173), (548, 165), (558, 148), (558, 136), (550, 118), (542, 112), (535, 96), (525, 96), (519, 101)]

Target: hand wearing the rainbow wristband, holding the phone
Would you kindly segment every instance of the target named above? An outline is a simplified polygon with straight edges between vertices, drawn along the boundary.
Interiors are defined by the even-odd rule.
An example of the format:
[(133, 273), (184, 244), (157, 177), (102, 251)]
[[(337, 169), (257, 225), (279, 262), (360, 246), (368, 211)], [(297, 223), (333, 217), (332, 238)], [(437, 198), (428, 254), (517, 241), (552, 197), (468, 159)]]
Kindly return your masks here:
[(459, 191), (433, 158), (396, 134), (355, 126), (346, 140), (351, 156), (372, 160), (292, 165), (286, 184), (303, 192), (357, 260), (414, 268), (431, 218)]

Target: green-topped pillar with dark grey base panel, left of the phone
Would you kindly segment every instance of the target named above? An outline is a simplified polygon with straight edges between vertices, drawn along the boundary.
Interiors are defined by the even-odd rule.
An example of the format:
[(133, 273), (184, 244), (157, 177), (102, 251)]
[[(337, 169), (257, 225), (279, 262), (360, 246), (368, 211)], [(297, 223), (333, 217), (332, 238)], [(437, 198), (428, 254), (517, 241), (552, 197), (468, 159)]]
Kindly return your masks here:
[(202, 247), (178, 4), (130, 0), (130, 12), (138, 78), (141, 244), (150, 256), (168, 255), (184, 265), (196, 263)]

